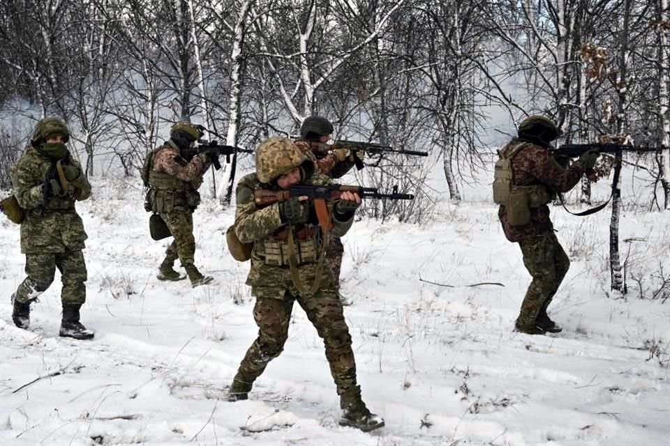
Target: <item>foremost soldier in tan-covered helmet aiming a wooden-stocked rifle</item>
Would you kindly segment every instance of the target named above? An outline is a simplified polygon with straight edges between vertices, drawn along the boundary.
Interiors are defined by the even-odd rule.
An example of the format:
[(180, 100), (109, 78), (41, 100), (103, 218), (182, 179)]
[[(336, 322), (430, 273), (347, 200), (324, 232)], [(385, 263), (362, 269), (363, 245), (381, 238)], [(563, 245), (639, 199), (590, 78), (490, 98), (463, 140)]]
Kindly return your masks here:
[[(327, 185), (331, 180), (313, 173), (314, 162), (287, 138), (273, 137), (258, 146), (256, 172), (239, 180), (235, 228), (241, 243), (253, 243), (246, 284), (256, 303), (253, 317), (258, 338), (248, 348), (228, 392), (229, 401), (247, 399), (267, 364), (288, 339), (293, 303), (307, 314), (323, 339), (326, 358), (340, 395), (342, 426), (371, 431), (384, 420), (366, 408), (356, 380), (356, 363), (342, 303), (334, 277), (323, 263), (324, 232), (315, 216), (313, 200), (294, 197), (259, 208), (254, 190), (288, 190), (292, 185)], [(344, 192), (327, 216), (327, 231), (343, 236), (353, 222), (360, 197)], [(311, 288), (305, 291), (305, 284)]]

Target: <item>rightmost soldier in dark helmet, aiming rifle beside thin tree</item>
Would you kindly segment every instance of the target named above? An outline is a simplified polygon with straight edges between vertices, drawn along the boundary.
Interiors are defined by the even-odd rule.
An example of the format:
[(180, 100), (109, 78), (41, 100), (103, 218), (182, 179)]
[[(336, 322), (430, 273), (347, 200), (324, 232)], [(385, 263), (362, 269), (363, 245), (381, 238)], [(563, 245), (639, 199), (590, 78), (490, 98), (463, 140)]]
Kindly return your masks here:
[[(550, 119), (529, 116), (519, 125), (519, 137), (499, 151), (500, 160), (509, 160), (511, 164), (512, 180), (511, 191), (500, 200), (498, 217), (507, 240), (519, 243), (523, 265), (533, 277), (515, 324), (516, 331), (528, 334), (563, 330), (549, 318), (546, 309), (570, 262), (553, 231), (547, 203), (556, 192), (571, 190), (583, 174), (593, 169), (598, 156), (587, 152), (565, 167), (549, 151), (558, 134)], [(497, 181), (498, 178), (494, 180), (494, 194)]]

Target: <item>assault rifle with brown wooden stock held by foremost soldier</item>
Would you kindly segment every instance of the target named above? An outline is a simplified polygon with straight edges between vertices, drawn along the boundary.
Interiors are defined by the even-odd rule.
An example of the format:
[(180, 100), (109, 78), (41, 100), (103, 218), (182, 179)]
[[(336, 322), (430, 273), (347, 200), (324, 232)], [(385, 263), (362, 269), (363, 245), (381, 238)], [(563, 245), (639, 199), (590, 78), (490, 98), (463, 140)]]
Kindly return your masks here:
[(314, 200), (334, 201), (343, 192), (354, 192), (359, 197), (368, 199), (412, 200), (412, 194), (399, 194), (398, 186), (394, 186), (390, 194), (379, 192), (376, 187), (350, 186), (341, 184), (330, 185), (295, 185), (288, 190), (255, 190), (253, 199), (256, 206), (262, 208), (277, 201), (285, 201), (292, 197), (309, 197)]

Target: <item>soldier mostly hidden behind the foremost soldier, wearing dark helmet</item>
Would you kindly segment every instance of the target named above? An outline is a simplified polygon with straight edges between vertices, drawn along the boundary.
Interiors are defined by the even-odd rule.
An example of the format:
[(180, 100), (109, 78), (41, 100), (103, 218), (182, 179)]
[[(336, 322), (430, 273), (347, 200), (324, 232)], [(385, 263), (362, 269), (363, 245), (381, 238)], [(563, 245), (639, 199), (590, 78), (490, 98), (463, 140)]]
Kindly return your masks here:
[[(341, 178), (354, 167), (354, 154), (348, 153), (345, 148), (337, 148), (329, 153), (320, 153), (319, 157), (311, 151), (309, 142), (328, 142), (333, 132), (333, 125), (322, 116), (308, 116), (300, 126), (300, 139), (295, 141), (295, 145), (304, 151), (306, 155), (314, 162), (316, 170), (320, 174), (330, 178)], [(364, 153), (357, 154), (363, 159)], [(335, 291), (338, 294), (342, 305), (351, 305), (350, 298), (345, 297), (340, 292), (340, 272), (342, 269), (342, 257), (344, 256), (344, 245), (341, 238), (330, 235), (329, 244), (326, 250), (326, 262), (333, 270), (335, 277)]]

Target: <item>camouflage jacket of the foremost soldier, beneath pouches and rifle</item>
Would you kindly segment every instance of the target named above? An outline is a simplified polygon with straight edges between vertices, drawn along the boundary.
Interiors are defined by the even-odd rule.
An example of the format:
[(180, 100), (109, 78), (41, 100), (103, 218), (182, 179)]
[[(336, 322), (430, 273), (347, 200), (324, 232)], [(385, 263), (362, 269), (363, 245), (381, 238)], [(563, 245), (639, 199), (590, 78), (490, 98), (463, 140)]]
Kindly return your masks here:
[[(311, 178), (304, 181), (304, 184), (315, 185), (330, 183), (332, 183), (332, 180), (322, 174), (313, 174)], [(271, 204), (265, 208), (258, 208), (255, 205), (253, 191), (257, 189), (279, 190), (277, 186), (260, 183), (256, 174), (246, 175), (239, 180), (236, 191), (237, 208), (235, 226), (237, 237), (241, 243), (256, 242), (287, 228), (287, 225), (281, 222), (278, 203)], [(352, 226), (353, 216), (345, 222), (340, 222), (334, 217), (332, 209), (329, 210), (331, 211), (331, 221), (333, 224), (330, 233), (334, 236), (343, 236)], [(321, 239), (323, 238), (320, 226), (316, 222), (308, 223), (305, 226), (311, 229), (311, 231), (318, 233)], [(306, 283), (311, 283), (315, 277), (316, 263), (301, 265), (298, 267), (298, 270), (299, 276), (304, 278)], [(322, 281), (322, 289), (332, 286), (332, 272), (327, 270), (327, 266), (324, 266), (324, 270), (327, 279)], [(256, 249), (253, 250), (251, 254), (251, 269), (246, 279), (246, 284), (252, 286), (253, 295), (258, 297), (283, 298), (286, 289), (289, 288), (287, 286), (288, 283), (290, 283), (288, 268), (267, 265), (263, 262), (262, 256), (256, 252)]]

